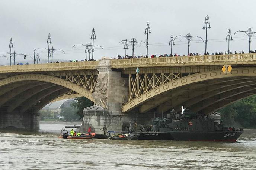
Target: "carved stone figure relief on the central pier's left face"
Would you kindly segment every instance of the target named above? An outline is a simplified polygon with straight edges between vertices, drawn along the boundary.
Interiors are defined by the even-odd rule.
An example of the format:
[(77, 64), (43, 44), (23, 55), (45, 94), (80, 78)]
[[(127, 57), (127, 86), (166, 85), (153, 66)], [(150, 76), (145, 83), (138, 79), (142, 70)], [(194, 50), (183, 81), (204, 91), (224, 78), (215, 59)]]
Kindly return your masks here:
[(108, 74), (100, 75), (98, 74), (97, 82), (95, 84), (95, 90), (92, 93), (92, 98), (95, 99), (95, 104), (101, 106), (105, 109), (108, 109), (106, 104), (107, 100), (107, 83), (108, 83)]

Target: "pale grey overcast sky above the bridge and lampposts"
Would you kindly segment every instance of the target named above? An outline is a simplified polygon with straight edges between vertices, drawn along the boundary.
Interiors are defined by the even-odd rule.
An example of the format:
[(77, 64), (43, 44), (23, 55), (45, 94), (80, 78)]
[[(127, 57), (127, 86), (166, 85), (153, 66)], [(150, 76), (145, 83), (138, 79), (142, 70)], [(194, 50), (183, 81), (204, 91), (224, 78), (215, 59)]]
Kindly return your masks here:
[[(75, 44), (90, 42), (92, 29), (95, 28), (94, 57), (116, 57), (125, 55), (121, 40), (147, 38), (144, 35), (147, 21), (150, 22), (151, 35), (148, 37), (148, 55), (170, 54), (168, 45), (170, 35), (199, 36), (205, 40), (202, 29), (205, 16), (209, 16), (211, 29), (208, 30), (207, 51), (225, 52), (228, 28), (233, 41), (230, 50), (249, 51), (248, 36), (234, 32), (255, 29), (256, 1), (249, 0), (0, 0), (0, 52), (9, 52), (10, 38), (16, 53), (33, 55), (36, 48), (48, 48), (48, 33), (51, 33), (51, 46), (62, 49), (54, 53), (54, 60), (85, 59), (84, 46), (73, 48)], [(256, 34), (255, 34), (256, 35)], [(251, 50), (256, 49), (256, 37), (252, 37)], [(184, 37), (175, 40), (173, 53), (188, 53), (188, 42)], [(204, 53), (205, 44), (199, 39), (191, 41), (190, 52)], [(37, 50), (41, 59), (47, 59), (47, 50)], [(145, 55), (144, 45), (135, 46), (135, 55)], [(128, 55), (132, 55), (129, 45)], [(89, 57), (89, 54), (88, 54)], [(1, 58), (1, 57), (0, 57)], [(23, 60), (23, 56), (17, 57)], [(25, 61), (25, 60), (24, 60)], [(13, 61), (12, 61), (13, 62)], [(8, 63), (3, 58), (0, 64)]]

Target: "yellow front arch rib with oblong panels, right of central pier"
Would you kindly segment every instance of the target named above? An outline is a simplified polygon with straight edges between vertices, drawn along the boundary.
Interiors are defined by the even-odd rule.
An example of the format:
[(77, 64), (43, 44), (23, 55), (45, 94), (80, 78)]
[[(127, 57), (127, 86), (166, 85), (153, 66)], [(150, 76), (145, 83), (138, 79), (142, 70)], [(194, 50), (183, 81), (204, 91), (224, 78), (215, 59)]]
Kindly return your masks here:
[[(197, 85), (199, 83), (209, 82), (209, 81), (217, 81), (218, 83), (220, 83), (221, 81), (227, 81), (227, 79), (228, 81), (233, 81), (235, 79), (236, 80), (241, 79), (242, 81), (242, 79), (250, 79), (250, 78), (253, 78), (253, 79), (256, 78), (255, 68), (237, 67), (237, 68), (233, 68), (231, 73), (223, 73), (221, 70), (195, 73), (189, 76), (175, 79), (166, 84), (157, 86), (156, 88), (151, 89), (150, 91), (145, 92), (144, 94), (141, 94), (140, 96), (132, 99), (131, 101), (123, 105), (122, 111), (123, 112), (131, 111), (132, 109), (139, 107), (140, 105), (143, 105), (147, 101), (150, 101), (157, 97), (160, 98), (161, 95), (167, 94), (168, 92), (169, 94), (175, 93), (175, 90), (181, 87), (186, 87), (186, 86), (188, 87), (189, 85)], [(249, 94), (249, 95), (252, 95), (252, 94)], [(237, 98), (237, 100), (239, 100), (239, 97)], [(160, 103), (158, 104), (160, 105)], [(155, 105), (154, 107), (157, 107), (157, 105)]]

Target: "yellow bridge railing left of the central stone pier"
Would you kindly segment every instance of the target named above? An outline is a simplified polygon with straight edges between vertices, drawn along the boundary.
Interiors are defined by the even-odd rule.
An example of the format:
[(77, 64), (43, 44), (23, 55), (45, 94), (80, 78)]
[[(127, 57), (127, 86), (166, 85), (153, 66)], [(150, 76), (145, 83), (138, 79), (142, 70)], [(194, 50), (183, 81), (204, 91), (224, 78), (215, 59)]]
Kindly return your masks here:
[(19, 71), (49, 71), (59, 69), (78, 69), (78, 68), (91, 68), (99, 65), (99, 61), (86, 61), (86, 62), (65, 62), (65, 63), (47, 63), (47, 64), (30, 64), (30, 65), (13, 65), (13, 66), (0, 66), (1, 72), (19, 72)]

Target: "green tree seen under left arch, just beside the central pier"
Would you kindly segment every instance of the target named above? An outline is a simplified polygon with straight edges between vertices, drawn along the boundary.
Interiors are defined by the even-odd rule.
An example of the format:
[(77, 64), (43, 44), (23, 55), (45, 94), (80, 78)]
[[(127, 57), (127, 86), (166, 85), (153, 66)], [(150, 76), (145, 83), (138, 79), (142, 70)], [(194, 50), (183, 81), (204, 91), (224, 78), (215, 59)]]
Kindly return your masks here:
[(75, 100), (77, 102), (73, 102), (70, 105), (76, 108), (76, 115), (79, 116), (79, 119), (82, 119), (84, 117), (83, 116), (84, 108), (92, 106), (93, 102), (87, 99), (86, 97), (77, 97)]

